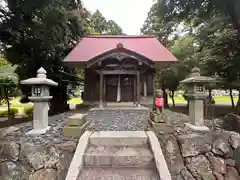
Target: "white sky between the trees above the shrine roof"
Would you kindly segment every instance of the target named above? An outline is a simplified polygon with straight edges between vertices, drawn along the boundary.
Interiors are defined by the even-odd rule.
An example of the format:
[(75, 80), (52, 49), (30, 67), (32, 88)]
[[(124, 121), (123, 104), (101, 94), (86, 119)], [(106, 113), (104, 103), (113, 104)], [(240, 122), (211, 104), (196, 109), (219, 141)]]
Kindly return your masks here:
[(128, 35), (139, 35), (153, 0), (82, 0), (91, 12), (97, 9), (107, 20), (114, 20)]

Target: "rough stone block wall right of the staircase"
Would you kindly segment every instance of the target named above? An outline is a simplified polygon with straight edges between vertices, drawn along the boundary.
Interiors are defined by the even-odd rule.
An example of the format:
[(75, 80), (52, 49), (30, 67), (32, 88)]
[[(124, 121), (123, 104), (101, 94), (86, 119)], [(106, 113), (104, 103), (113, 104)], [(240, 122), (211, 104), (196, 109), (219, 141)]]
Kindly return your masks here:
[(240, 134), (158, 135), (173, 180), (239, 180)]

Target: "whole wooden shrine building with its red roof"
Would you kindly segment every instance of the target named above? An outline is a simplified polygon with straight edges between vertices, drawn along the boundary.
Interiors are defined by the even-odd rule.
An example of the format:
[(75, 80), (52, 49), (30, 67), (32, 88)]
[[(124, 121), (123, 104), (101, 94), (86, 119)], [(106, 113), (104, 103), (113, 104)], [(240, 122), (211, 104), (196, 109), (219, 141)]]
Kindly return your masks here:
[(85, 69), (83, 101), (132, 102), (155, 92), (155, 72), (177, 61), (155, 36), (87, 35), (63, 62)]

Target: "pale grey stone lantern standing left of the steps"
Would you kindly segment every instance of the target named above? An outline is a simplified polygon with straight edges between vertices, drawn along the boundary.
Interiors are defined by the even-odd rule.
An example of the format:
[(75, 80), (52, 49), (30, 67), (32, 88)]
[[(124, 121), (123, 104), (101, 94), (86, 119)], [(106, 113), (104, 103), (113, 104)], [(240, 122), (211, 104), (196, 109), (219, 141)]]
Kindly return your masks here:
[(28, 132), (29, 135), (45, 134), (49, 129), (48, 110), (49, 100), (52, 99), (49, 92), (49, 86), (57, 86), (58, 83), (47, 79), (47, 72), (41, 67), (37, 71), (37, 77), (21, 81), (21, 84), (32, 86), (32, 95), (29, 97), (33, 102), (33, 130)]

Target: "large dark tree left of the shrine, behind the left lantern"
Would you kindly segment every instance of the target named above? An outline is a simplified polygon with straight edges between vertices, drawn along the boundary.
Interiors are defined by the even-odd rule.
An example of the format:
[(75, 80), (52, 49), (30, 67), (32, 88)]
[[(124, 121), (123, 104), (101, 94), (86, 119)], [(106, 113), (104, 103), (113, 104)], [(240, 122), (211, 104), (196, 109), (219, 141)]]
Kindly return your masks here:
[[(83, 15), (73, 13), (74, 9), (81, 12), (81, 2), (7, 0), (6, 3), (8, 9), (0, 9), (0, 41), (6, 58), (19, 65), (16, 72), (21, 80), (36, 76), (37, 69), (44, 67), (48, 77), (59, 83), (57, 88), (51, 88), (51, 111), (66, 110), (67, 85), (77, 78), (68, 75), (75, 72), (61, 60), (87, 30)], [(29, 93), (29, 89), (22, 89)]]

